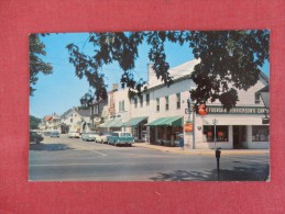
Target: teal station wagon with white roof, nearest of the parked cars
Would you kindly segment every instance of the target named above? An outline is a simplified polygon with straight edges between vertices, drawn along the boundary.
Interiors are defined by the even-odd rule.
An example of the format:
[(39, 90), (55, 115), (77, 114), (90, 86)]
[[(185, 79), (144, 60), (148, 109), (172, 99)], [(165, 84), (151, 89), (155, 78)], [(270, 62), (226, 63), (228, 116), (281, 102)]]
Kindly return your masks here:
[(128, 132), (113, 132), (108, 137), (108, 144), (118, 145), (132, 145), (134, 138), (131, 133)]

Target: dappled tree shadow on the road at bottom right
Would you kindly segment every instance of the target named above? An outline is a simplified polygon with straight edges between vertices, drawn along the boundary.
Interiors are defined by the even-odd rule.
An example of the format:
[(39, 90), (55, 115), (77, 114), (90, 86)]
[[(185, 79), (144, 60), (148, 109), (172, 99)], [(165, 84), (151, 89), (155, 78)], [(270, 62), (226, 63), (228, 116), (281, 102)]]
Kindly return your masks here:
[(172, 172), (160, 172), (150, 178), (153, 181), (265, 181), (268, 176), (268, 167), (246, 168), (234, 167), (232, 170), (221, 169), (219, 174), (213, 170), (176, 170)]

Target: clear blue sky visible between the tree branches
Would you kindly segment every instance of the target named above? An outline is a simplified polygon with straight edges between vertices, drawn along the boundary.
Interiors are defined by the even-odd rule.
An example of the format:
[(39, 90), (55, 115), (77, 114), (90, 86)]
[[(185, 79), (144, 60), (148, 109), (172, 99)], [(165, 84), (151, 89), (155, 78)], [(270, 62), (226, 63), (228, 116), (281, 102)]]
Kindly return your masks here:
[[(87, 54), (92, 54), (92, 47), (88, 43), (88, 33), (61, 33), (50, 34), (42, 37), (45, 44), (46, 56), (41, 58), (44, 61), (51, 63), (53, 66), (52, 75), (39, 75), (39, 80), (34, 88), (34, 95), (30, 97), (30, 114), (36, 117), (44, 117), (56, 113), (62, 115), (64, 112), (73, 106), (79, 106), (79, 99), (88, 92), (89, 85), (86, 78), (79, 79), (75, 75), (75, 68), (68, 61), (68, 50), (66, 46), (70, 43), (77, 45), (80, 50)], [(187, 45), (179, 46), (177, 44), (167, 43), (166, 60), (171, 68), (194, 59), (191, 50)], [(139, 58), (135, 63), (133, 71), (135, 79), (147, 79), (147, 58), (149, 48), (145, 44), (139, 48)], [(266, 63), (262, 70), (266, 76), (270, 74), (268, 63)], [(122, 70), (118, 64), (105, 66), (102, 68), (105, 74), (105, 81), (108, 85), (108, 90), (111, 89), (112, 83), (119, 83)]]

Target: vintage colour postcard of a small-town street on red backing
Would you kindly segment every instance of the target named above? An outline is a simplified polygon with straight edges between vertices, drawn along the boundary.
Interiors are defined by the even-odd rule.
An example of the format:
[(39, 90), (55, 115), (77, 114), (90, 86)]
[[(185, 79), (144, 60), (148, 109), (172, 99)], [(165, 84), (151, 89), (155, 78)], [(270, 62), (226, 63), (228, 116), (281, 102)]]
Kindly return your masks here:
[(30, 35), (30, 181), (268, 181), (268, 31)]

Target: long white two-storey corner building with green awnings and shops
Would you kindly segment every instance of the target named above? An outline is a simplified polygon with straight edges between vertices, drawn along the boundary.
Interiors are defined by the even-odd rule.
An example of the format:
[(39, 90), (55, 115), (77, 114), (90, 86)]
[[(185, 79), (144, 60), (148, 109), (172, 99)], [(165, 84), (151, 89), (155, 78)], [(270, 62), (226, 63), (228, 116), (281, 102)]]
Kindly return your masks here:
[[(147, 91), (141, 98), (129, 99), (128, 90), (113, 91), (109, 99), (109, 121), (106, 126), (132, 132), (138, 142), (174, 146), (177, 134), (191, 122), (194, 132), (184, 133), (185, 146), (190, 148), (268, 148), (268, 125), (262, 124), (264, 104), (255, 92), (268, 85), (261, 74), (259, 82), (248, 91), (238, 90), (239, 101), (230, 112), (219, 102), (207, 103), (206, 116), (187, 114), (189, 90), (195, 83), (189, 79), (194, 59), (169, 69), (174, 77), (171, 87), (164, 86), (149, 65)], [(216, 142), (215, 125), (216, 121)]]

